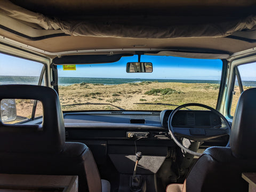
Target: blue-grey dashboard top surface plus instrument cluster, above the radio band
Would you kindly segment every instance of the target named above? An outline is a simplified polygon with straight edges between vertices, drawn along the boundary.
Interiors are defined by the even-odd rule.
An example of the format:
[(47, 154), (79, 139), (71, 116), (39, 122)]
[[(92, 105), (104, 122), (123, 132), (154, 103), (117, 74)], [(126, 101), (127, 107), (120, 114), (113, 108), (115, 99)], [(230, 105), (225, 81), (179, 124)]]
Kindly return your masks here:
[[(167, 129), (171, 111), (90, 111), (65, 113), (63, 117), (66, 127)], [(207, 110), (180, 110), (175, 114), (172, 124), (177, 127), (218, 128), (221, 126), (221, 120)]]

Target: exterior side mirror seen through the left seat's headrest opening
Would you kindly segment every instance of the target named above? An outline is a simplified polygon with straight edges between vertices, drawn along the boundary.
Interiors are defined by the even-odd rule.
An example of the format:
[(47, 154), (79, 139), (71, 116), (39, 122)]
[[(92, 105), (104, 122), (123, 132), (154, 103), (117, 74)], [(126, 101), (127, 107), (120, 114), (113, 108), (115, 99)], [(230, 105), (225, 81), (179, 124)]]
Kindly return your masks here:
[(17, 118), (15, 99), (1, 100), (1, 119), (2, 122), (14, 121)]

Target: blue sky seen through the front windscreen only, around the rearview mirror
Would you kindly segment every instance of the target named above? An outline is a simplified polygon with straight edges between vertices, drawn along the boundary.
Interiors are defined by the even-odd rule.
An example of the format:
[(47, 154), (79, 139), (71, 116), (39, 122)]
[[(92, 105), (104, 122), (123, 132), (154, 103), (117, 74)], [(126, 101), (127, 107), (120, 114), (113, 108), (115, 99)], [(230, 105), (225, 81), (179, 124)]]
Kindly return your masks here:
[(58, 73), (60, 77), (219, 80), (222, 70), (221, 60), (141, 55), (141, 62), (153, 63), (153, 73), (126, 73), (127, 62), (138, 62), (138, 56), (123, 57), (115, 63), (76, 65), (76, 71), (63, 70), (58, 66)]

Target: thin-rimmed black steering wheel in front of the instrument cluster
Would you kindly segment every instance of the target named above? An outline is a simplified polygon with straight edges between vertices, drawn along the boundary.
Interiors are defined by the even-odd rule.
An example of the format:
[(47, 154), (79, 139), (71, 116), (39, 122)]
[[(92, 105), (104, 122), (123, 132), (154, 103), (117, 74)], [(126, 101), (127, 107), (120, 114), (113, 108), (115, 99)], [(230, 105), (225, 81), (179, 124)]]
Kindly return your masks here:
[[(172, 119), (174, 117), (174, 115), (182, 108), (185, 107), (189, 107), (189, 106), (197, 106), (197, 107), (203, 107), (206, 109), (211, 110), (214, 114), (218, 115), (226, 124), (226, 128), (190, 128), (190, 127), (173, 127), (172, 126)], [(169, 132), (171, 134), (171, 137), (173, 139), (173, 141), (184, 151), (186, 151), (189, 154), (195, 155), (195, 156), (201, 156), (201, 153), (197, 153), (195, 151), (192, 151), (188, 148), (186, 148), (185, 146), (183, 146), (181, 144), (181, 142), (176, 138), (175, 135), (179, 135), (183, 138), (187, 138), (190, 140), (194, 140), (194, 141), (205, 141), (208, 139), (212, 139), (212, 138), (217, 138), (217, 137), (221, 137), (223, 135), (230, 135), (230, 131), (231, 131), (231, 126), (228, 122), (228, 120), (226, 119), (225, 116), (223, 116), (221, 113), (219, 113), (219, 111), (217, 111), (216, 109), (213, 109), (212, 107), (203, 105), (203, 104), (199, 104), (199, 103), (187, 103), (185, 105), (181, 105), (177, 108), (175, 108), (172, 113), (169, 116), (169, 120), (168, 120), (168, 129)], [(227, 144), (227, 146), (229, 145), (229, 142)]]

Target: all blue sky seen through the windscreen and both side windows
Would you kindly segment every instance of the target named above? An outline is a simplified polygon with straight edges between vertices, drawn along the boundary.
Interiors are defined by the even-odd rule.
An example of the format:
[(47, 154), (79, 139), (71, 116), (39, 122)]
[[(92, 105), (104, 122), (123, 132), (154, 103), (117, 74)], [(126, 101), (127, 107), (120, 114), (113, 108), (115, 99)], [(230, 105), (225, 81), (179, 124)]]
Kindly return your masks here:
[[(220, 80), (222, 70), (221, 60), (141, 55), (141, 62), (153, 63), (153, 72), (126, 73), (127, 62), (138, 62), (138, 55), (108, 64), (76, 65), (70, 71), (58, 66), (58, 73), (60, 77)], [(42, 63), (0, 53), (1, 76), (39, 76), (42, 67)], [(242, 80), (256, 81), (256, 65), (239, 66), (239, 71)]]

